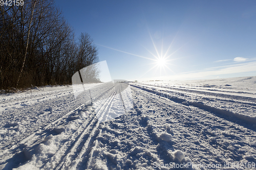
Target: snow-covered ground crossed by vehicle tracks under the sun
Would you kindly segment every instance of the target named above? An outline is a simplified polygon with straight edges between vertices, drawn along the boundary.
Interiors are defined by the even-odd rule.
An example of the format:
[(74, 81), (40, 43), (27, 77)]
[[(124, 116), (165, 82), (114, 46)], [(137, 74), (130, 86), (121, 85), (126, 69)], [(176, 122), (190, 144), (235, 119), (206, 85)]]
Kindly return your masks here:
[(1, 94), (0, 169), (256, 169), (256, 77), (84, 89)]

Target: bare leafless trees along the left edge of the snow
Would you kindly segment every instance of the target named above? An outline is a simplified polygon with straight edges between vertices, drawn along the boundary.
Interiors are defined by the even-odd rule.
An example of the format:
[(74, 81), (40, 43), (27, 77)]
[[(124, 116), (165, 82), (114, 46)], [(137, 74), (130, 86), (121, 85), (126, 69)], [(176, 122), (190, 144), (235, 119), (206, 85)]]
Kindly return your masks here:
[(98, 62), (87, 33), (78, 41), (51, 0), (0, 6), (0, 89), (70, 84), (79, 69)]

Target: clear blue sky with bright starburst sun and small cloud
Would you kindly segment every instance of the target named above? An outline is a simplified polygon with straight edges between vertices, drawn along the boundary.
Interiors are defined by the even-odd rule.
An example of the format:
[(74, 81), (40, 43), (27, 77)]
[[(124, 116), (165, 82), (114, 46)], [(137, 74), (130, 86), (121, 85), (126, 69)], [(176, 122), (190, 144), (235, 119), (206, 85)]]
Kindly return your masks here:
[(77, 37), (93, 38), (112, 79), (256, 76), (256, 1), (55, 4)]

